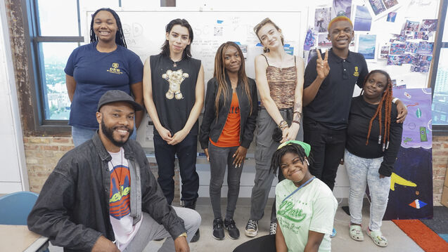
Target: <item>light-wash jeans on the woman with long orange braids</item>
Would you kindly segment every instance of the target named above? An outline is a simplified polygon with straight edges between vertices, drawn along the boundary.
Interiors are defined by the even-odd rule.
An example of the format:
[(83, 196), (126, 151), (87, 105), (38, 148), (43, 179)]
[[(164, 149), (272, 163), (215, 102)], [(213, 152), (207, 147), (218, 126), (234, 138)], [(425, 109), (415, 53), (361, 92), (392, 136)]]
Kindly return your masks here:
[(369, 185), (371, 197), (370, 223), (371, 231), (380, 231), (381, 222), (388, 206), (390, 177), (380, 178), (378, 169), (383, 157), (377, 159), (364, 159), (345, 150), (344, 164), (350, 181), (350, 195), (348, 205), (350, 208), (350, 221), (361, 224), (362, 201), (366, 185)]

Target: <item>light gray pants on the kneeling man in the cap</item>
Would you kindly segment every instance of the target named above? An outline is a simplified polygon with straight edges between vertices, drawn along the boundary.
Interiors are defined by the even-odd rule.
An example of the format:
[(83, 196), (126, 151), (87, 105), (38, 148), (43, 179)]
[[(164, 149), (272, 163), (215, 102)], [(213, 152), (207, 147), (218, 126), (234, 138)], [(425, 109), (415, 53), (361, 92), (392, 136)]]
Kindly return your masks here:
[[(191, 238), (198, 230), (200, 225), (200, 215), (198, 212), (190, 208), (181, 208), (173, 206), (174, 211), (176, 211), (177, 216), (184, 220), (184, 225), (186, 228), (187, 241), (190, 242)], [(125, 252), (141, 252), (148, 245), (148, 243), (155, 239), (167, 238), (165, 242), (160, 247), (159, 252), (172, 252), (174, 249), (174, 240), (172, 239), (169, 232), (165, 229), (163, 225), (157, 223), (151, 215), (148, 213), (142, 213), (143, 221), (140, 225), (139, 231), (137, 231), (134, 239), (131, 243), (124, 249)]]

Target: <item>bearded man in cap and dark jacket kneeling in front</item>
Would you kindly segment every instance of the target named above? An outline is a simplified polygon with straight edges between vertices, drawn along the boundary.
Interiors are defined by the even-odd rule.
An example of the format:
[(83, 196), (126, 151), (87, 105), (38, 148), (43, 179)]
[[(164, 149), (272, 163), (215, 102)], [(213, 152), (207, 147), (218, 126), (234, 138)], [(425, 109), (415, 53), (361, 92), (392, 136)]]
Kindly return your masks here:
[(65, 154), (28, 216), (31, 231), (64, 251), (143, 251), (167, 237), (159, 251), (190, 251), (200, 215), (167, 204), (138, 142), (129, 140), (135, 111), (123, 91), (98, 102), (99, 131)]

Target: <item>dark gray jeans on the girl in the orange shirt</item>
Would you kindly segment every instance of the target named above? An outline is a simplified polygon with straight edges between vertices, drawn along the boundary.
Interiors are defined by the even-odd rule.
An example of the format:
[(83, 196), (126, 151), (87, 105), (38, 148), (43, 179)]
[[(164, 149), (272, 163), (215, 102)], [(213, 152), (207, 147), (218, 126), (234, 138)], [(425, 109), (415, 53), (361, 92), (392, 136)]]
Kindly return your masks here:
[(224, 183), (224, 174), (227, 168), (227, 211), (226, 219), (233, 219), (236, 201), (240, 194), (240, 179), (243, 172), (244, 161), (241, 166), (233, 165), (235, 154), (239, 146), (217, 147), (208, 142), (208, 153), (210, 154), (210, 201), (215, 218), (221, 218), (221, 188)]

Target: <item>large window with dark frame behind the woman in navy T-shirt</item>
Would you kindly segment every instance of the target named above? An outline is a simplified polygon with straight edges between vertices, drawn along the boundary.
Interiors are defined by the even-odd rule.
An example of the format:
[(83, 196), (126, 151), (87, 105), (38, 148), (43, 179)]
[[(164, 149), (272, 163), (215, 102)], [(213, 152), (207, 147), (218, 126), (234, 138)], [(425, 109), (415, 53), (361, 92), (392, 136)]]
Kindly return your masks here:
[(84, 14), (104, 6), (117, 8), (120, 1), (22, 1), (27, 8), (31, 63), (34, 67), (34, 121), (38, 131), (50, 128), (60, 130), (60, 127), (54, 126), (67, 126), (70, 115), (65, 64), (75, 48), (89, 43), (89, 38), (82, 36), (83, 33), (89, 36)]

